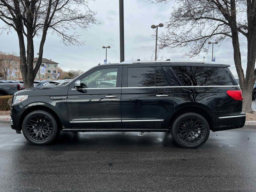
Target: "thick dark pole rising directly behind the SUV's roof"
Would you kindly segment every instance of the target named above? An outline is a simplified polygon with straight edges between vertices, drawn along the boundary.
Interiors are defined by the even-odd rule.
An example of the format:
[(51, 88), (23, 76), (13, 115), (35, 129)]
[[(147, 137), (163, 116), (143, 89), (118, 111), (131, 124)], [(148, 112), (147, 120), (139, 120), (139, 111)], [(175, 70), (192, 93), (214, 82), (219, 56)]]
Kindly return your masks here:
[(119, 0), (120, 62), (124, 61), (124, 0)]

